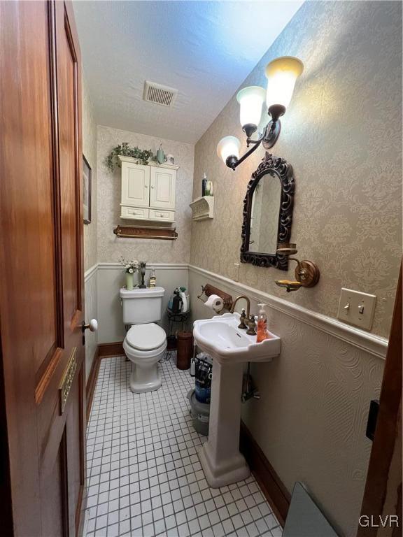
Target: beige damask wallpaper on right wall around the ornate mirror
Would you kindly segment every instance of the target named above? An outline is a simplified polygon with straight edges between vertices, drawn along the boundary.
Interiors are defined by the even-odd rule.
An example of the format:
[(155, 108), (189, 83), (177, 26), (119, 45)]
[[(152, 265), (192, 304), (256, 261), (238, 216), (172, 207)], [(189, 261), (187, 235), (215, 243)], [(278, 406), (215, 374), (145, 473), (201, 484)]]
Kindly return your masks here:
[[(388, 336), (402, 255), (402, 6), (395, 1), (306, 1), (242, 84), (266, 85), (264, 66), (297, 56), (305, 70), (282, 118), (274, 155), (295, 173), (292, 242), (320, 267), (313, 289), (285, 294), (293, 278), (241, 264), (240, 281), (337, 316), (341, 287), (376, 294), (372, 331)], [(263, 149), (233, 172), (215, 152), (222, 136), (243, 142), (235, 96), (195, 147), (194, 197), (206, 171), (213, 220), (192, 226), (191, 264), (236, 277), (243, 197)]]

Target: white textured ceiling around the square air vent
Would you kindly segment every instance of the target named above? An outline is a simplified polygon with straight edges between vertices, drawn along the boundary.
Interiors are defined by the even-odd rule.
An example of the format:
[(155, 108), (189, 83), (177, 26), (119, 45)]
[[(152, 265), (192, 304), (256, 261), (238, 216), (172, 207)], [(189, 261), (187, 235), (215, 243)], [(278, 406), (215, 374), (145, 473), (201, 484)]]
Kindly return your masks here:
[[(302, 1), (75, 1), (99, 124), (196, 143)], [(143, 101), (144, 80), (178, 90)]]

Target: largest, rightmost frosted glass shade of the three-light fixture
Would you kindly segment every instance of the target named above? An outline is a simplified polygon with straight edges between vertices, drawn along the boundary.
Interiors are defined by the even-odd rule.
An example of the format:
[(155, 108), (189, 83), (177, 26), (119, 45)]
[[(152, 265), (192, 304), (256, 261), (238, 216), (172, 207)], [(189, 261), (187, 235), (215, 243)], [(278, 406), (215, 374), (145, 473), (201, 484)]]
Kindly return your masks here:
[(302, 71), (304, 71), (304, 64), (300, 59), (292, 56), (283, 56), (267, 64), (267, 108), (274, 104), (288, 107), (292, 92), (294, 92), (295, 81)]

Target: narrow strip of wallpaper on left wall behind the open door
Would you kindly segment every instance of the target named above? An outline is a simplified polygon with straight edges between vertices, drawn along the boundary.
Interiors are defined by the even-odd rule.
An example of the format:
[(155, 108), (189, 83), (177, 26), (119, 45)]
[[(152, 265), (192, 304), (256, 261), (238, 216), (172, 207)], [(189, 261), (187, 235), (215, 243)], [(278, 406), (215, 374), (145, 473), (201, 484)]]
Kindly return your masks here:
[(87, 83), (82, 78), (83, 154), (92, 169), (91, 223), (84, 224), (84, 270), (97, 263), (97, 122)]

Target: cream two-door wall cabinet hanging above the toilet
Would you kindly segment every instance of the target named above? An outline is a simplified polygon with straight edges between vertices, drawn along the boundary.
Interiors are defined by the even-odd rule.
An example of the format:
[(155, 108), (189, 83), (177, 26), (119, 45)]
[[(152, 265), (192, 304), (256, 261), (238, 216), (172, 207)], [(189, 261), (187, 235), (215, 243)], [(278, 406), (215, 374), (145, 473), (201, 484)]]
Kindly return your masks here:
[(119, 157), (122, 165), (120, 217), (130, 220), (174, 222), (176, 171), (179, 166)]

